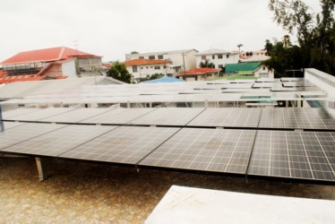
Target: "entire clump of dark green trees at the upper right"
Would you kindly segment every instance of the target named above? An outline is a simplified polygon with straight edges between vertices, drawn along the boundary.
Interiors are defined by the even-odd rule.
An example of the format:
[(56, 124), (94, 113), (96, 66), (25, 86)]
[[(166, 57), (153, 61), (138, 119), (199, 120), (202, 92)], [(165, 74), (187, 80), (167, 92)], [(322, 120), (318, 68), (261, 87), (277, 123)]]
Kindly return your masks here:
[(271, 59), (264, 65), (281, 74), (285, 73), (285, 68), (314, 67), (335, 75), (335, 1), (320, 0), (320, 3), (322, 12), (314, 18), (302, 0), (270, 0), (274, 20), (289, 33), (296, 32), (299, 46), (293, 46), (286, 35), (269, 51), (271, 43), (266, 40), (265, 48), (270, 52)]

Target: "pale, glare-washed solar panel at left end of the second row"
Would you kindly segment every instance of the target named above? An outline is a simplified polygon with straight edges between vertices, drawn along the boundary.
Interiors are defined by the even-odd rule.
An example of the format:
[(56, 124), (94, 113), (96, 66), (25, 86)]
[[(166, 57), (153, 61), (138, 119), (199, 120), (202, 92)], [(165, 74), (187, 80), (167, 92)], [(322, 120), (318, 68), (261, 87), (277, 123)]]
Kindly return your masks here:
[(9, 117), (8, 120), (13, 121), (38, 121), (49, 116), (55, 116), (64, 112), (68, 112), (76, 108), (46, 108), (39, 109), (29, 114)]

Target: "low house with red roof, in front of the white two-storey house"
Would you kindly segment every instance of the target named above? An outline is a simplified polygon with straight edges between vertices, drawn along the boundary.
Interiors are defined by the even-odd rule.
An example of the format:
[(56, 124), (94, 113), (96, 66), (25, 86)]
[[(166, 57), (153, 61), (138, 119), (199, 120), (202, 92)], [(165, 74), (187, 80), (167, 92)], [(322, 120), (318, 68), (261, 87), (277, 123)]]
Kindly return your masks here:
[(219, 71), (215, 68), (194, 68), (178, 73), (176, 77), (185, 81), (206, 81), (219, 77)]

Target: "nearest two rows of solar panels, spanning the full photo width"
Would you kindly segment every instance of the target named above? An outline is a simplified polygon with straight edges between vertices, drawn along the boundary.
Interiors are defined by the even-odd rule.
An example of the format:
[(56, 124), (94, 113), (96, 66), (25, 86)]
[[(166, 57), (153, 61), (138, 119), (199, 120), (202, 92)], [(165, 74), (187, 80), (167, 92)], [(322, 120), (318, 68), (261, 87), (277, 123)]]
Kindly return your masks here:
[(1, 122), (0, 152), (335, 182), (335, 120), (321, 108), (42, 110), (57, 122), (91, 117), (81, 125)]

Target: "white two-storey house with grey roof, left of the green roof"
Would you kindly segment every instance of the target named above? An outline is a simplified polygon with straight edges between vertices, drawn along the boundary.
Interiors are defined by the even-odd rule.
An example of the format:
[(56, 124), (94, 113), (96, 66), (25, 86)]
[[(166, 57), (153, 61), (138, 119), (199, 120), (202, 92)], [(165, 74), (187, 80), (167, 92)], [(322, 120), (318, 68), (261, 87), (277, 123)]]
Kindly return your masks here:
[(209, 49), (196, 54), (196, 66), (200, 67), (200, 63), (209, 60), (214, 64), (214, 68), (222, 68), (227, 64), (238, 63), (239, 53), (220, 49)]

